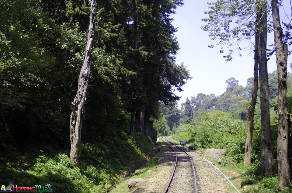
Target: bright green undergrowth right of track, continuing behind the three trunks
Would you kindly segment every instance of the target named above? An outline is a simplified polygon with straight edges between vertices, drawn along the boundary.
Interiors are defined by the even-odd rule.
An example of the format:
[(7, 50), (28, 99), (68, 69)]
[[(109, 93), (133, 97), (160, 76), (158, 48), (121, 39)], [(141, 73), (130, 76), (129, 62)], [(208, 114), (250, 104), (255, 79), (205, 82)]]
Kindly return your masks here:
[[(277, 120), (271, 119), (271, 137), (273, 145), (277, 140)], [(247, 135), (247, 122), (238, 119), (238, 115), (230, 112), (213, 110), (200, 112), (191, 124), (180, 125), (172, 137), (175, 140), (185, 140), (188, 144), (202, 149), (226, 149), (221, 162), (227, 167), (236, 168), (242, 172), (241, 187), (247, 186), (243, 192), (292, 192), (286, 188), (280, 191), (278, 187), (277, 167), (272, 171), (271, 177), (265, 178), (261, 172), (261, 122), (255, 119), (252, 140), (252, 164), (243, 166), (245, 153), (245, 140)], [(276, 150), (273, 157), (277, 157)]]

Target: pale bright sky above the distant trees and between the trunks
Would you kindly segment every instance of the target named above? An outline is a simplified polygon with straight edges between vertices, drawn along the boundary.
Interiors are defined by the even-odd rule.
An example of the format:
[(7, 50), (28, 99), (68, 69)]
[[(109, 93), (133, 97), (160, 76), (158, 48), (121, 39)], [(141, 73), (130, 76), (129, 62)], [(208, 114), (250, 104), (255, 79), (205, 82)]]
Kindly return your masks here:
[[(201, 18), (207, 18), (204, 11), (208, 10), (207, 0), (194, 1), (185, 0), (182, 7), (176, 9), (173, 25), (178, 27), (176, 32), (179, 41), (180, 50), (176, 55), (176, 63), (184, 63), (190, 71), (190, 76), (193, 77), (189, 80), (182, 89), (184, 91), (175, 91), (176, 95), (182, 96), (180, 104), (189, 99), (191, 96), (196, 96), (202, 92), (204, 94), (220, 95), (226, 91), (225, 81), (234, 77), (239, 81), (239, 85), (245, 86), (246, 80), (253, 76), (254, 66), (254, 53), (252, 50), (242, 50), (242, 57), (238, 57), (238, 53), (233, 55), (231, 62), (226, 62), (223, 54), (219, 53), (220, 47), (214, 46), (209, 48), (213, 41), (210, 40), (208, 32), (204, 32), (200, 27), (205, 25), (206, 22), (201, 21)], [(283, 0), (283, 7), (291, 19), (291, 9), (289, 0)], [(280, 8), (283, 12), (283, 8)], [(267, 45), (273, 44), (273, 33), (268, 34)], [(228, 50), (224, 49), (226, 55)], [(288, 72), (291, 72), (289, 67), (288, 57)], [(277, 69), (276, 57), (273, 56), (268, 61), (268, 73), (272, 73)]]

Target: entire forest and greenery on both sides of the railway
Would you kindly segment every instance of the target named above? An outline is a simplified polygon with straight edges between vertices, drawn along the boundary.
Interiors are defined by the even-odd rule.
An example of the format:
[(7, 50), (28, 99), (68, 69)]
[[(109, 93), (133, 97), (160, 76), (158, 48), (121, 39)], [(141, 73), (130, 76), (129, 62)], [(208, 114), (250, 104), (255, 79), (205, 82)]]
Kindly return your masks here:
[(290, 192), (291, 22), (280, 22), (277, 0), (208, 4), (209, 47), (228, 62), (238, 42), (252, 43), (254, 76), (241, 86), (234, 74), (221, 95), (179, 107), (175, 91), (191, 79), (172, 24), (183, 0), (1, 1), (0, 185), (109, 192), (172, 135), (226, 149), (224, 164), (245, 171), (241, 185), (255, 184), (245, 192)]

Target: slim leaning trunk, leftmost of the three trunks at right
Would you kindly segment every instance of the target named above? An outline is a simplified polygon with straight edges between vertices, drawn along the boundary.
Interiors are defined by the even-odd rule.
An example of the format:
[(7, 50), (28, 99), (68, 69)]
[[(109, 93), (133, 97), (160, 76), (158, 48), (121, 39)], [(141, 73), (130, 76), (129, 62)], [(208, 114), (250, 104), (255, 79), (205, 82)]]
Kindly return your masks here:
[[(260, 15), (257, 14), (257, 20)], [(257, 26), (255, 26), (257, 30)], [(247, 121), (247, 137), (245, 142), (245, 155), (244, 155), (244, 165), (249, 166), (252, 162), (252, 135), (254, 129), (254, 114), (255, 114), (255, 104), (256, 98), (258, 96), (258, 78), (259, 78), (259, 48), (258, 48), (258, 32), (255, 31), (255, 65), (253, 68), (253, 90), (252, 90), (252, 100), (250, 102), (249, 112), (248, 112), (248, 121)]]

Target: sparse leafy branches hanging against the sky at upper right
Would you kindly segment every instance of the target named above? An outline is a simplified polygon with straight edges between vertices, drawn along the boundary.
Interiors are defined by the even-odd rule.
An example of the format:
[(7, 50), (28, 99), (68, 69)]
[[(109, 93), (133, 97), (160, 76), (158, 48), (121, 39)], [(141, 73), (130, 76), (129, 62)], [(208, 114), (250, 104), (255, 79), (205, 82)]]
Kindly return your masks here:
[[(205, 12), (208, 18), (201, 19), (207, 24), (201, 28), (209, 32), (211, 40), (220, 46), (220, 53), (224, 50), (229, 52), (223, 55), (226, 61), (231, 61), (232, 55), (238, 51), (241, 56), (242, 48), (238, 42), (249, 40), (254, 35), (255, 12), (261, 3), (256, 1), (218, 0), (208, 2), (209, 10)], [(232, 41), (233, 40), (233, 41)], [(236, 43), (235, 43), (236, 42)], [(213, 45), (208, 47), (213, 48)]]

